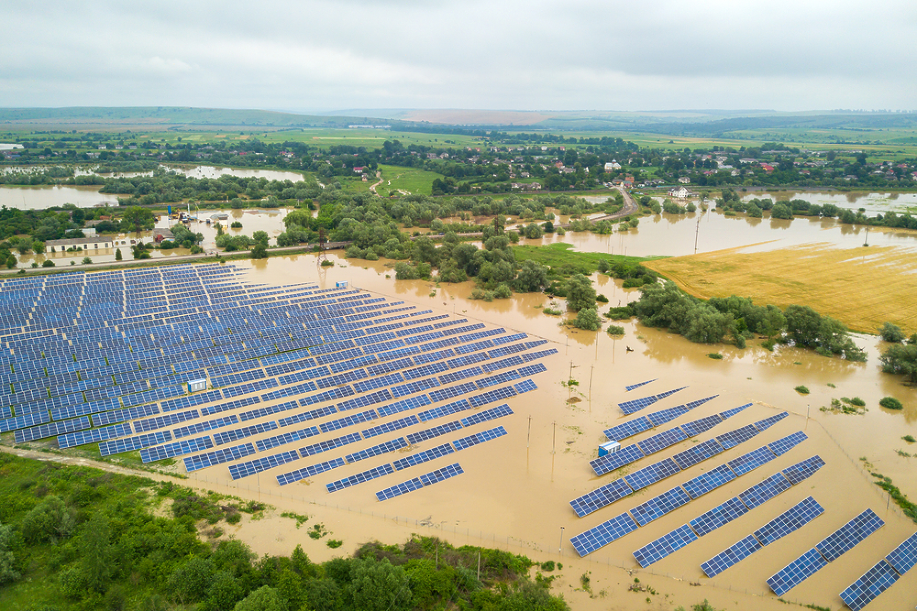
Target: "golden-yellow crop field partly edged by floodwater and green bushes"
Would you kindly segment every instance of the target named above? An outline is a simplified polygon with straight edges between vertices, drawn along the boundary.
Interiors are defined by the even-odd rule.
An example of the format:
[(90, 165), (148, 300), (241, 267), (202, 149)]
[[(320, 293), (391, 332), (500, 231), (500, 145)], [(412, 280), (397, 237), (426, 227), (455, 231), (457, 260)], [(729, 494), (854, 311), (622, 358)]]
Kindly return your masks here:
[(850, 329), (876, 333), (894, 322), (917, 332), (917, 253), (898, 246), (801, 245), (764, 252), (743, 247), (647, 261), (695, 297), (748, 297), (786, 308), (808, 305)]

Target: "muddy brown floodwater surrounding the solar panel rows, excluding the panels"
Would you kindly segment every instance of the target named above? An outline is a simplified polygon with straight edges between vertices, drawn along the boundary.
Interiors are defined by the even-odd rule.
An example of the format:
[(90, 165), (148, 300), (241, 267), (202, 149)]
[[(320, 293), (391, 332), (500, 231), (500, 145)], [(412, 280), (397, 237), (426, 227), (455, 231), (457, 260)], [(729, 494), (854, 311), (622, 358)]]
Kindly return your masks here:
[[(274, 475), (291, 470), (289, 466), (235, 483), (230, 481), (226, 465), (191, 474), (191, 482), (197, 485), (259, 497), (277, 507), (278, 512), (292, 510), (311, 517), (303, 529), (295, 529), (293, 520), (286, 518), (260, 521), (246, 518), (238, 528), (229, 527), (229, 534), (247, 541), (259, 553), (288, 554), (297, 543), (302, 543), (312, 558), (322, 560), (353, 551), (367, 540), (394, 543), (403, 541), (412, 532), (419, 532), (439, 536), (456, 545), (499, 547), (525, 553), (539, 562), (562, 562), (564, 568), (559, 572), (562, 577), (555, 582), (556, 592), (564, 594), (574, 609), (674, 609), (708, 599), (716, 608), (776, 610), (786, 606), (770, 593), (765, 580), (869, 507), (885, 520), (884, 528), (783, 596), (790, 602), (838, 608), (842, 606), (839, 593), (847, 585), (917, 530), (917, 525), (903, 517), (900, 509), (889, 503), (888, 496), (872, 483), (859, 460), (866, 458), (873, 470), (889, 475), (905, 494), (917, 497), (917, 475), (912, 463), (915, 459), (896, 452), (908, 451), (908, 444), (901, 440), (903, 435), (917, 435), (917, 401), (913, 390), (901, 386), (899, 377), (879, 372), (880, 346), (875, 338), (856, 337), (857, 344), (867, 350), (869, 360), (866, 364), (824, 358), (790, 347), (779, 347), (771, 353), (757, 342), (749, 343), (745, 350), (691, 344), (679, 336), (648, 329), (635, 322), (625, 322), (624, 337), (614, 339), (603, 332), (558, 327), (558, 318), (541, 312), (549, 303), (544, 295), (514, 295), (509, 300), (485, 303), (469, 300), (470, 283), (437, 288), (431, 282), (395, 281), (385, 261), (354, 262), (337, 254), (330, 254), (329, 259), (335, 262), (334, 267), (318, 267), (315, 255), (277, 257), (237, 265), (247, 270), (245, 279), (254, 283), (317, 282), (322, 288), (330, 288), (337, 281), (348, 280), (351, 287), (387, 296), (390, 300), (404, 300), (436, 313), (454, 314), (489, 326), (501, 326), (507, 331), (522, 331), (545, 338), (549, 346), (558, 348), (559, 354), (543, 361), (548, 370), (535, 376), (538, 385), (535, 392), (508, 399), (513, 415), (486, 423), (489, 426), (481, 428), (503, 425), (508, 435), (432, 462), (425, 471), (459, 462), (465, 473), (411, 494), (384, 502), (376, 500), (376, 491), (405, 479), (398, 473), (334, 494), (326, 492), (327, 483), (375, 464), (342, 468), (283, 487), (277, 485)], [(636, 296), (635, 291), (622, 289), (612, 279), (593, 278), (593, 281), (609, 297), (611, 305)], [(722, 353), (724, 359), (709, 358), (707, 354), (713, 351)], [(570, 376), (579, 382), (572, 391), (561, 384)], [(657, 381), (631, 392), (624, 390), (626, 385), (652, 378)], [(793, 388), (799, 385), (809, 387), (811, 394), (798, 394)], [(685, 473), (648, 486), (586, 518), (578, 518), (569, 507), (571, 499), (607, 484), (628, 470), (667, 458), (691, 445), (691, 441), (681, 442), (625, 467), (618, 475), (596, 477), (588, 464), (597, 455), (598, 444), (605, 441), (602, 430), (625, 421), (617, 403), (684, 386), (687, 388), (641, 413), (718, 396), (660, 427), (663, 430), (753, 403), (750, 408), (703, 433), (697, 438), (699, 441), (783, 410), (789, 412), (789, 417)], [(900, 398), (905, 409), (895, 412), (880, 408), (879, 398), (887, 395)], [(569, 398), (574, 397), (579, 398), (579, 402), (569, 402)], [(831, 398), (841, 397), (863, 398), (868, 411), (865, 415), (836, 415), (819, 410), (829, 405)], [(263, 420), (271, 420), (271, 417)], [(738, 455), (796, 431), (804, 431), (808, 440), (778, 459), (585, 558), (580, 559), (569, 543), (573, 535)], [(625, 443), (640, 441), (651, 434), (642, 433)], [(363, 446), (371, 444), (363, 442)], [(437, 443), (433, 441), (422, 442), (410, 452), (434, 445)], [(348, 452), (363, 446), (355, 444), (353, 450), (348, 446)], [(820, 455), (826, 465), (800, 485), (649, 569), (641, 569), (635, 562), (633, 551), (780, 469), (815, 454)], [(320, 461), (299, 461), (292, 468), (317, 462)], [(175, 468), (182, 469), (177, 465)], [(702, 562), (806, 496), (813, 496), (825, 508), (823, 516), (715, 578), (704, 576), (700, 568)], [(330, 550), (325, 540), (314, 541), (306, 537), (306, 529), (319, 522), (331, 532), (328, 538), (344, 541), (342, 548)], [(580, 588), (583, 573), (591, 577), (591, 593)], [(635, 577), (658, 592), (658, 595), (649, 595), (649, 603), (646, 593), (627, 591)], [(915, 604), (917, 571), (901, 578), (868, 608), (903, 609)]]

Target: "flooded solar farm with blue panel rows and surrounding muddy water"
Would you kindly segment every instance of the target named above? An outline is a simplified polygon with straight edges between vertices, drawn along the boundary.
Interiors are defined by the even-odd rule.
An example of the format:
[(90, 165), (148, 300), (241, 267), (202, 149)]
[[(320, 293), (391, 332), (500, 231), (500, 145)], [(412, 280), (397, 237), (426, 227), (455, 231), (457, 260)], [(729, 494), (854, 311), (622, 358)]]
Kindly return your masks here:
[[(562, 563), (576, 609), (917, 604), (917, 525), (868, 474), (917, 495), (897, 452), (917, 402), (878, 340), (860, 364), (635, 322), (615, 339), (558, 327), (544, 295), (329, 258), (4, 279), (4, 441), (129, 453), (344, 540), (230, 527), (258, 553), (423, 532)], [(819, 409), (842, 396), (867, 412)]]

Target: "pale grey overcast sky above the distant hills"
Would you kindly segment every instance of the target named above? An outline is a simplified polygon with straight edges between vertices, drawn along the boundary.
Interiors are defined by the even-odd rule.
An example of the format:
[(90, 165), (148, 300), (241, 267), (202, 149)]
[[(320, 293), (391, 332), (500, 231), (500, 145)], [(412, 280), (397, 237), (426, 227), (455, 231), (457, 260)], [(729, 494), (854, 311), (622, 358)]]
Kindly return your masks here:
[(3, 5), (7, 107), (917, 108), (914, 0)]

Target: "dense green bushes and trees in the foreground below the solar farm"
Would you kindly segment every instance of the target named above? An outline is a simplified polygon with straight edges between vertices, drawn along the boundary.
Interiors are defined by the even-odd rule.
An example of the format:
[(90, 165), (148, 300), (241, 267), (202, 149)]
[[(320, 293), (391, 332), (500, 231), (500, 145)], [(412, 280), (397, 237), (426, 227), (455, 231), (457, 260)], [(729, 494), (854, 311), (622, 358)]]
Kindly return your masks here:
[(0, 595), (28, 600), (29, 611), (569, 608), (549, 578), (527, 576), (531, 560), (507, 551), (414, 535), (323, 563), (299, 545), (258, 557), (221, 536), (227, 523), (263, 515), (254, 501), (6, 453), (0, 474)]

